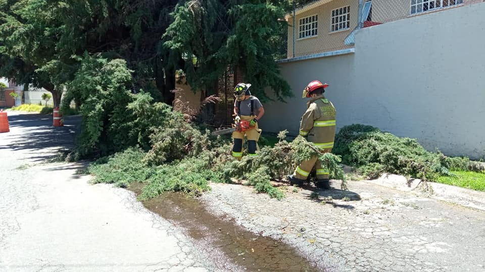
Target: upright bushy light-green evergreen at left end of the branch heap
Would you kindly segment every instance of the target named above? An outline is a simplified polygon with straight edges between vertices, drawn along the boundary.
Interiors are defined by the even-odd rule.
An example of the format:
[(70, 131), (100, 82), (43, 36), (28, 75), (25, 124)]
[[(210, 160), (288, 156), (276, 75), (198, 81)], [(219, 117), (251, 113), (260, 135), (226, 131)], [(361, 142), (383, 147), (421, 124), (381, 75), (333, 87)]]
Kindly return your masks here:
[(81, 104), (81, 133), (75, 151), (78, 157), (109, 155), (135, 146), (137, 139), (130, 137), (130, 121), (134, 117), (126, 108), (133, 101), (128, 88), (132, 71), (122, 59), (109, 60), (86, 53), (78, 60), (79, 69), (62, 102), (63, 112), (67, 112), (73, 99)]

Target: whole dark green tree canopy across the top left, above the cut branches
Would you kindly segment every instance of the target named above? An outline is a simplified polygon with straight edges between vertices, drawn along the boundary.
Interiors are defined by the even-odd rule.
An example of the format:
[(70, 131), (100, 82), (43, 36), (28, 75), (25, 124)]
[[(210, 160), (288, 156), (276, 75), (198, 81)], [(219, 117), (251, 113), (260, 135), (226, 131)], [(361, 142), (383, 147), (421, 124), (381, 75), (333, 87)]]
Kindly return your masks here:
[(0, 10), (0, 76), (59, 93), (56, 105), (85, 52), (124, 59), (132, 92), (166, 103), (175, 70), (205, 89), (228, 65), (263, 100), (266, 87), (278, 99), (290, 95), (274, 62), (286, 43), (287, 1), (6, 0)]

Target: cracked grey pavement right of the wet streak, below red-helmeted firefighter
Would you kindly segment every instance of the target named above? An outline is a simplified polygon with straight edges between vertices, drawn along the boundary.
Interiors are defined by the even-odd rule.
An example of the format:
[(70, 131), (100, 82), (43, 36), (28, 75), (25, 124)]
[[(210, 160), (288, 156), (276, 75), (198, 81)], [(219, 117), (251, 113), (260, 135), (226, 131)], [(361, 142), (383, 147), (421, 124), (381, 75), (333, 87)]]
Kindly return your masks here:
[(236, 184), (211, 184), (202, 201), (327, 271), (485, 271), (483, 211), (366, 181), (350, 181), (347, 198), (340, 189), (278, 185), (281, 201)]

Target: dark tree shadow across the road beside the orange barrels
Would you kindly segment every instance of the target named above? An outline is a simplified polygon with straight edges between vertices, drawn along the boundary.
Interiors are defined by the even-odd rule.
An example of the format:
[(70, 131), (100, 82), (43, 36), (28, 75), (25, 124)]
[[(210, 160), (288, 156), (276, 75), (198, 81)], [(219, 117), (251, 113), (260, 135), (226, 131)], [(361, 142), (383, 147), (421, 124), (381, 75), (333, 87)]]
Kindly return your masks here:
[[(52, 159), (62, 149), (72, 149), (80, 116), (66, 116), (64, 126), (52, 126), (52, 115), (12, 114), (10, 132), (0, 134), (0, 151), (28, 151), (33, 161)], [(6, 140), (6, 141), (4, 141)]]

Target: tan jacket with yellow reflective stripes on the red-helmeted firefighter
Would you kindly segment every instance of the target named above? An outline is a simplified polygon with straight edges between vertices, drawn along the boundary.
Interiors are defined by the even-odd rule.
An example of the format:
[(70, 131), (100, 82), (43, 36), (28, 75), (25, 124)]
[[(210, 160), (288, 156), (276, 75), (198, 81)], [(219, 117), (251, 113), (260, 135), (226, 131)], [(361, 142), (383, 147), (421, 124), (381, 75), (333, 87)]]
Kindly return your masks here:
[(310, 100), (300, 123), (300, 135), (321, 149), (333, 148), (335, 107), (323, 95)]

